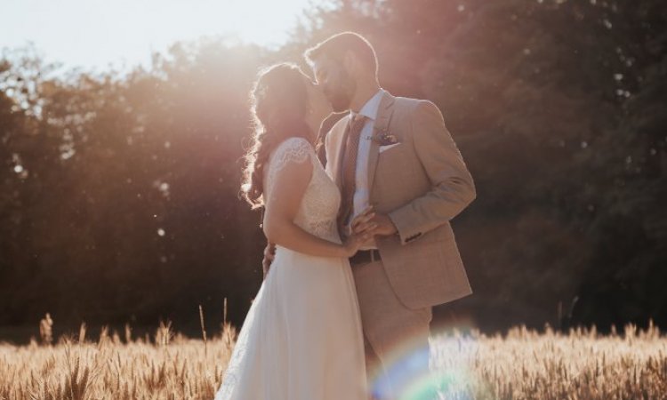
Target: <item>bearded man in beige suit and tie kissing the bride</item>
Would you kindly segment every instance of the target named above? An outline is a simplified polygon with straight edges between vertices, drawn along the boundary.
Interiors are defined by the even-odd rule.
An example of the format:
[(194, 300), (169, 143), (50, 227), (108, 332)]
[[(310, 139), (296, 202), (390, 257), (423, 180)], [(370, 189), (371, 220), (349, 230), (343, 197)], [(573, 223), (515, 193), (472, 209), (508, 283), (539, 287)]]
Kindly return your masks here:
[[(438, 108), (383, 90), (364, 37), (331, 36), (305, 58), (333, 111), (350, 111), (326, 135), (326, 171), (341, 188), (342, 235), (376, 226), (350, 265), (369, 388), (393, 398), (428, 374), (431, 308), (471, 293), (449, 221), (475, 187)], [(350, 227), (369, 205), (371, 223)]]

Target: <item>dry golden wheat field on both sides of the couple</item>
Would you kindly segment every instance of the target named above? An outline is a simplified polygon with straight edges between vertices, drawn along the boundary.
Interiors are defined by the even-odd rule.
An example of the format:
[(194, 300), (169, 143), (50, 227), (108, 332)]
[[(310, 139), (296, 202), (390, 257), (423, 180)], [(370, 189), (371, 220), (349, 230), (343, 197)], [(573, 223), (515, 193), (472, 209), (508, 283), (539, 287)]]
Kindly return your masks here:
[[(91, 341), (82, 325), (78, 338), (52, 343), (51, 324), (44, 318), (41, 340), (27, 346), (0, 343), (0, 399), (213, 399), (235, 334), (226, 324), (194, 340), (161, 324), (153, 337), (126, 327)], [(667, 399), (667, 337), (655, 327), (450, 332), (431, 351), (446, 399)]]

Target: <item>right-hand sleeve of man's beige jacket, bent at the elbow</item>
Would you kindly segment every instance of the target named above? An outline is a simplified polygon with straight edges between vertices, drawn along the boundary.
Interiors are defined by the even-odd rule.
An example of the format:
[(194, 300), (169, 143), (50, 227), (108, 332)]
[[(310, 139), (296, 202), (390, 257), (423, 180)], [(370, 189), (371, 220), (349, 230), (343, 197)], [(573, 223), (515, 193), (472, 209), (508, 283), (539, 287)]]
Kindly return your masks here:
[(475, 185), (438, 107), (422, 100), (411, 118), (414, 149), (431, 188), (389, 213), (406, 244), (451, 220), (475, 199)]

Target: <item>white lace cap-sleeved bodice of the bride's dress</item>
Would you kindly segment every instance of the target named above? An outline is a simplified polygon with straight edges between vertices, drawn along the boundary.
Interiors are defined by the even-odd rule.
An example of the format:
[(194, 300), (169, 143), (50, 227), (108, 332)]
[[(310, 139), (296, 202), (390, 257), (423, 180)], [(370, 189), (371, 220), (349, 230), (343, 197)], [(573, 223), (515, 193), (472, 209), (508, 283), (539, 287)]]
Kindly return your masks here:
[[(274, 193), (274, 183), (278, 174), (288, 164), (312, 165), (313, 172), (308, 188), (306, 188), (299, 212), (294, 223), (310, 234), (323, 239), (341, 243), (336, 228), (336, 215), (341, 203), (338, 186), (326, 174), (324, 167), (317, 159), (312, 145), (303, 138), (289, 138), (277, 146), (269, 156), (269, 163), (264, 171), (264, 198), (279, 195)], [(269, 204), (270, 206), (270, 204)]]

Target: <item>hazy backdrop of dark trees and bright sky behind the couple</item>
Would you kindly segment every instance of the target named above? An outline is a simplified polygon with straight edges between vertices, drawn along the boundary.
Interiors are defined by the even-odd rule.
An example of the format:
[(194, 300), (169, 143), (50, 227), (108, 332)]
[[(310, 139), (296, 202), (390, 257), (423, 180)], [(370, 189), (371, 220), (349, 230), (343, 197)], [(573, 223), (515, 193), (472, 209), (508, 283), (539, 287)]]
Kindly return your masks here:
[(438, 327), (667, 327), (662, 0), (184, 4), (3, 5), (0, 340), (46, 312), (195, 334), (200, 304), (216, 332), (225, 298), (240, 324), (250, 85), (348, 29), (384, 88), (438, 104), (477, 184), (454, 220), (474, 294)]

